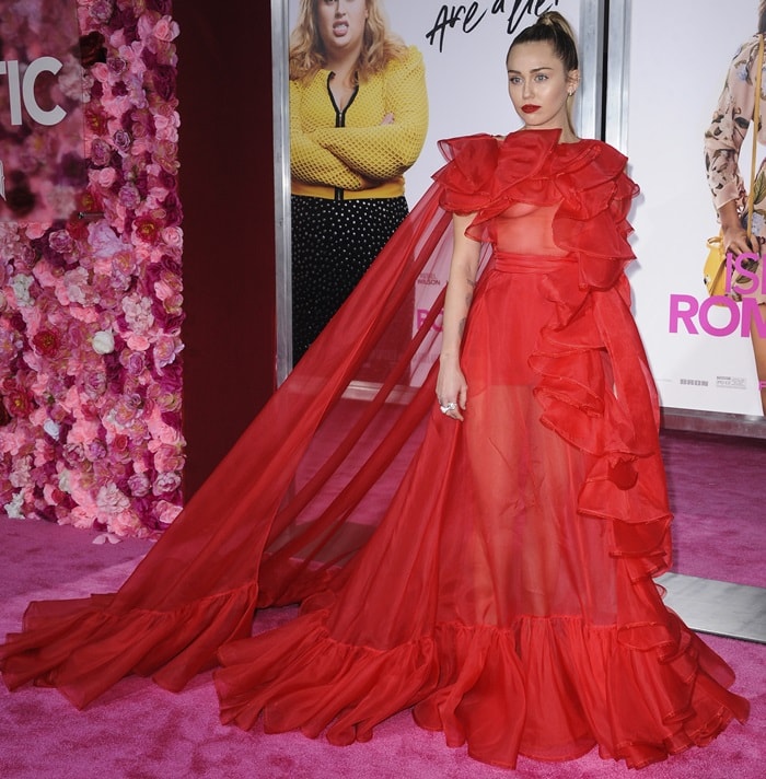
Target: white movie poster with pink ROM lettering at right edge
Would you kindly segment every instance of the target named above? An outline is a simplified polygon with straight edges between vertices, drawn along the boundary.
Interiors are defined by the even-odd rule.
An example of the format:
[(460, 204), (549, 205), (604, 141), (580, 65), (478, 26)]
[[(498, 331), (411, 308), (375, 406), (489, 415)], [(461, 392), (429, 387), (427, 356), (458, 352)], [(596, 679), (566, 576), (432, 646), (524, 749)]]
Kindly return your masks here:
[[(631, 213), (638, 263), (630, 281), (664, 407), (763, 415), (759, 384), (766, 365), (759, 380), (751, 329), (766, 339), (766, 310), (752, 295), (740, 302), (709, 298), (703, 282), (706, 241), (719, 231), (706, 175), (706, 132), (717, 168), (712, 186), (733, 187), (728, 179), (733, 181), (731, 170), (739, 163), (750, 187), (752, 125), (739, 159), (727, 159), (721, 149), (731, 135), (727, 123), (744, 130), (752, 117), (752, 102), (743, 111), (732, 101), (754, 90), (741, 49), (757, 32), (758, 5), (758, 0), (697, 0), (692, 11), (685, 1), (640, 0), (630, 3), (627, 40), (610, 42), (629, 53), (626, 126), (607, 127), (606, 140), (615, 142), (622, 130), (630, 175), (641, 187)], [(727, 79), (720, 112), (729, 118), (721, 120)], [(757, 155), (759, 165), (761, 143)], [(764, 223), (757, 209), (755, 220), (756, 228)], [(761, 287), (763, 293), (763, 275), (740, 284)], [(766, 362), (766, 347), (761, 349)]]

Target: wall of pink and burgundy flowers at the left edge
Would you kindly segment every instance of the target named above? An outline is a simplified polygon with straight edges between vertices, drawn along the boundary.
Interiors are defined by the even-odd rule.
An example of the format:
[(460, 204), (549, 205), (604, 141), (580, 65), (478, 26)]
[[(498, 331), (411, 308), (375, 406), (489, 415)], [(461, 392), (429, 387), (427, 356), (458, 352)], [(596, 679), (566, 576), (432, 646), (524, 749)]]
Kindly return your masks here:
[(182, 503), (178, 27), (170, 0), (77, 12), (84, 156), (56, 174), (71, 216), (24, 221), (16, 198), (0, 221), (0, 505), (142, 536)]

